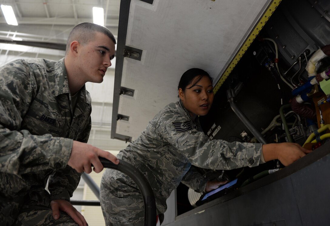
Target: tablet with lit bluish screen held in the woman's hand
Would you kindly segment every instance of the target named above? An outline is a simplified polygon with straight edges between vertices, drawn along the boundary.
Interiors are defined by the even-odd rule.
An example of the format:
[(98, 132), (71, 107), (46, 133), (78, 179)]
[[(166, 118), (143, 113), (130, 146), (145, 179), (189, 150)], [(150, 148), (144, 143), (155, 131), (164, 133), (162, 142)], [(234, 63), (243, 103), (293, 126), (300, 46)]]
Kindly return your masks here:
[(199, 198), (199, 200), (196, 202), (196, 205), (200, 206), (220, 196), (223, 196), (224, 194), (228, 193), (231, 190), (234, 190), (237, 187), (237, 180), (238, 179), (236, 178), (235, 180), (232, 180), (212, 191), (209, 191), (208, 193), (205, 193)]

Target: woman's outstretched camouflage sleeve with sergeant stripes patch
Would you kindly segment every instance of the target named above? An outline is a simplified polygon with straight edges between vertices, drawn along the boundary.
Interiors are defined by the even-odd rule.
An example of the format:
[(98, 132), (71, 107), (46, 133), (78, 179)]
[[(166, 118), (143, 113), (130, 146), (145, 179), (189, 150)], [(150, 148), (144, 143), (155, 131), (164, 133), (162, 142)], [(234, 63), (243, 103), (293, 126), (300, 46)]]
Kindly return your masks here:
[(228, 170), (259, 165), (262, 144), (211, 140), (178, 113), (163, 114), (158, 123), (158, 132), (163, 138), (194, 166)]

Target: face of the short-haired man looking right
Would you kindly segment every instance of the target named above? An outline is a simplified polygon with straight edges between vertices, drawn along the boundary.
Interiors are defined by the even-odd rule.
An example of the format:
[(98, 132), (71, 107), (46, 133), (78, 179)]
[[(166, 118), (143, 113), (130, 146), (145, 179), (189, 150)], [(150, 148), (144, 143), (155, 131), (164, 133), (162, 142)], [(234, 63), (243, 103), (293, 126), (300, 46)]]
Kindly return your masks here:
[(103, 82), (114, 56), (114, 42), (107, 35), (96, 32), (91, 41), (78, 47), (79, 76), (84, 82)]

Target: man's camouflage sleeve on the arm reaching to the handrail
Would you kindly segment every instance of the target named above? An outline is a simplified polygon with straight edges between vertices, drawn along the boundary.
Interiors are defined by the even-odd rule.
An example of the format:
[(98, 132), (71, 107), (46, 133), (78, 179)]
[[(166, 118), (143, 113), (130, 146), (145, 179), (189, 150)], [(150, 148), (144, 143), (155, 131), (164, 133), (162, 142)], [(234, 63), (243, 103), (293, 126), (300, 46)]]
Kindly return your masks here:
[(24, 61), (0, 68), (0, 170), (22, 174), (66, 167), (72, 140), (50, 134), (32, 135), (20, 126), (38, 86)]

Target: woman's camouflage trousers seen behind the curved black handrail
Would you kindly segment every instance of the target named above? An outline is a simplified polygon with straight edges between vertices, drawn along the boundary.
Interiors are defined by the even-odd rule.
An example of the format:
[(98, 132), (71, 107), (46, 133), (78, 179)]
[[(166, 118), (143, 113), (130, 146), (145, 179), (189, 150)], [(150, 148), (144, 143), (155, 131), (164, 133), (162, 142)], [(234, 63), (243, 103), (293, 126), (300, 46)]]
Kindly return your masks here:
[(113, 169), (107, 169), (103, 174), (100, 186), (100, 202), (107, 226), (144, 225), (142, 195), (135, 188), (135, 183), (132, 180), (126, 181), (127, 178), (125, 177), (124, 174)]

